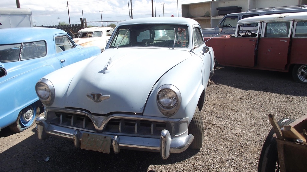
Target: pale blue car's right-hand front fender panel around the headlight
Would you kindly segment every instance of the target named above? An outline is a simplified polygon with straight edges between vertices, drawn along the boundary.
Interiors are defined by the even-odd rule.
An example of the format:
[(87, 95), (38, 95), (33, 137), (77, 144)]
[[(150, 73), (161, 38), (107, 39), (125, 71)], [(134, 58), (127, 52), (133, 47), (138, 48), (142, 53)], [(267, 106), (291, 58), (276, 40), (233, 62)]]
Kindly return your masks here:
[[(190, 68), (186, 68), (186, 66), (190, 66)], [(210, 71), (209, 69), (204, 71), (201, 59), (198, 57), (188, 58), (170, 69), (154, 85), (145, 105), (143, 115), (165, 117), (158, 109), (157, 91), (162, 85), (171, 84), (179, 89), (181, 93), (181, 104), (177, 113), (169, 118), (188, 117), (190, 122), (200, 96), (206, 89), (203, 85), (203, 80), (205, 79), (204, 72), (209, 73)], [(184, 80), (183, 78), (186, 79)], [(205, 81), (204, 83), (208, 83), (208, 81)]]

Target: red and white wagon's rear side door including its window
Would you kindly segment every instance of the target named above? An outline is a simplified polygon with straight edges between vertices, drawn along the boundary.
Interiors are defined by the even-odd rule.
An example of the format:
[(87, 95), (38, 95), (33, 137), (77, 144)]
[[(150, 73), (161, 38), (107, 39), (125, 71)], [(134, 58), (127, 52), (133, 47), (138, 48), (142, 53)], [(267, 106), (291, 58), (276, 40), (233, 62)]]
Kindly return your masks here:
[(288, 62), (291, 21), (264, 23), (258, 45), (258, 66), (284, 70)]

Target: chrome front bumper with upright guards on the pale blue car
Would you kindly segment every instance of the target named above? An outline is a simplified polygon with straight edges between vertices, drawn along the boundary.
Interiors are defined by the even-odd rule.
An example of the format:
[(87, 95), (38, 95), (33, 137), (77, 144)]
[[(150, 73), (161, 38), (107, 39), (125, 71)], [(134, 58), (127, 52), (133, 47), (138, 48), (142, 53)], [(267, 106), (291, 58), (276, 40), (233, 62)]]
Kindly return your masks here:
[[(50, 125), (46, 122), (45, 117), (36, 118), (37, 134), (39, 140), (45, 140), (48, 136), (59, 137), (66, 140), (73, 140), (76, 148), (81, 146), (81, 137), (83, 133), (90, 133), (79, 129)], [(95, 133), (98, 134), (99, 133)], [(134, 136), (111, 136), (111, 147), (115, 154), (118, 154), (120, 149), (131, 149), (139, 151), (160, 152), (162, 159), (167, 159), (170, 153), (180, 153), (185, 151), (192, 143), (194, 136), (188, 134), (186, 136), (178, 136), (171, 138), (168, 130), (161, 131), (160, 138), (145, 138)]]

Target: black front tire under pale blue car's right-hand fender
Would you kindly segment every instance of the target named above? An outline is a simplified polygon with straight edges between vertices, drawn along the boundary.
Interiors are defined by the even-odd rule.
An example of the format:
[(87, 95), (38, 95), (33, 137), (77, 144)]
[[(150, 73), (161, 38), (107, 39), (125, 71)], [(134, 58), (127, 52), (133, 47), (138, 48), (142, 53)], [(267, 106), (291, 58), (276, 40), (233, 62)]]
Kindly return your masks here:
[(192, 149), (200, 149), (204, 141), (204, 125), (198, 107), (196, 107), (192, 121), (188, 126), (188, 133), (194, 136), (190, 147)]

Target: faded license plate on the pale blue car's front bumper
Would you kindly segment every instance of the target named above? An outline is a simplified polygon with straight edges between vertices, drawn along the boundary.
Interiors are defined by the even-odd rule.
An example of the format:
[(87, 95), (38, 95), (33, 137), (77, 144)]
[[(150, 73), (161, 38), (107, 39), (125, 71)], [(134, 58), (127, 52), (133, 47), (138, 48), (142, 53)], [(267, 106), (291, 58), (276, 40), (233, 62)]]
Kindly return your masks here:
[(111, 137), (97, 134), (83, 133), (81, 149), (110, 153)]

